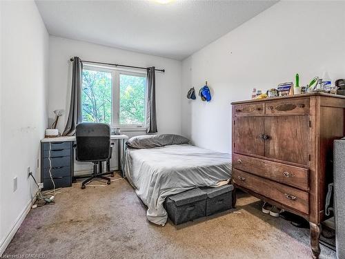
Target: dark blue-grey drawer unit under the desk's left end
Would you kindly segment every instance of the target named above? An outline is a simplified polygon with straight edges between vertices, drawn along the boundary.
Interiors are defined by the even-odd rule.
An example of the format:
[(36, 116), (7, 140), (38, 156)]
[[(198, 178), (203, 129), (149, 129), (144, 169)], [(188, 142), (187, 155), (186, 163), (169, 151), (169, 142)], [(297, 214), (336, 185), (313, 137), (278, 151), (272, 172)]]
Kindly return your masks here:
[[(72, 186), (74, 171), (72, 145), (73, 142), (71, 141), (41, 142), (41, 182), (43, 182), (43, 190), (53, 189), (52, 180), (54, 180), (55, 188)], [(49, 169), (52, 174), (52, 180)]]

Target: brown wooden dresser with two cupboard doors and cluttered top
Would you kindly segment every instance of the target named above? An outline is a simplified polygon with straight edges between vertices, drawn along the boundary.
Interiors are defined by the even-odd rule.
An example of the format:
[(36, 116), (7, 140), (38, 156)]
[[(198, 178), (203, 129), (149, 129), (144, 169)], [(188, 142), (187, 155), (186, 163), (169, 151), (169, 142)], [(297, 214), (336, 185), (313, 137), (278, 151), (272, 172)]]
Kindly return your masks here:
[(333, 140), (345, 135), (345, 97), (310, 93), (232, 104), (233, 184), (306, 218), (318, 258)]

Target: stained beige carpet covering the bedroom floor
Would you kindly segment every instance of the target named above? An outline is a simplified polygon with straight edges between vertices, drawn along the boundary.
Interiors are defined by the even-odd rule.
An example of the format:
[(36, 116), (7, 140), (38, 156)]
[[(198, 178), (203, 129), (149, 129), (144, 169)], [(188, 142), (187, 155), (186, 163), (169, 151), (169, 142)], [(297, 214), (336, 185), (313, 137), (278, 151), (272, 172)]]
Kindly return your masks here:
[[(126, 180), (84, 190), (76, 184), (57, 194), (55, 204), (32, 209), (4, 256), (311, 258), (307, 229), (265, 215), (259, 200), (239, 196), (234, 212), (159, 227), (146, 220), (146, 208)], [(322, 246), (320, 258), (335, 258), (335, 252)]]

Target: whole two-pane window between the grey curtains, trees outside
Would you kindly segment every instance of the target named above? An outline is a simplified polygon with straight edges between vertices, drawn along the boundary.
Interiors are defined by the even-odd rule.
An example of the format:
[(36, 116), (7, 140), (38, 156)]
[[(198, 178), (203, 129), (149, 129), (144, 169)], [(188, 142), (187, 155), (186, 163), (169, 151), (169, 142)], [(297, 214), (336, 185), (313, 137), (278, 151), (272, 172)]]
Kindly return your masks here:
[(84, 66), (81, 104), (83, 122), (144, 127), (146, 74)]

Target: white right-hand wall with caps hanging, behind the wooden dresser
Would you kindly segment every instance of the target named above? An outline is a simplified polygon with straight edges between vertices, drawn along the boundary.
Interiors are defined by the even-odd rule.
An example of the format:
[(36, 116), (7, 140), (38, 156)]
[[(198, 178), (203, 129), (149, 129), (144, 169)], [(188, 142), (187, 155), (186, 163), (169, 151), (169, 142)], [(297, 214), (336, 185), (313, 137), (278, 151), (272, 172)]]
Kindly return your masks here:
[[(328, 70), (345, 77), (344, 1), (280, 1), (199, 50), (182, 64), (182, 134), (195, 144), (230, 152), (230, 102), (250, 99), (251, 90), (293, 81), (308, 84)], [(191, 86), (204, 81), (210, 103), (189, 101)]]

